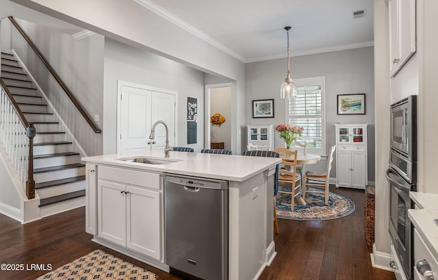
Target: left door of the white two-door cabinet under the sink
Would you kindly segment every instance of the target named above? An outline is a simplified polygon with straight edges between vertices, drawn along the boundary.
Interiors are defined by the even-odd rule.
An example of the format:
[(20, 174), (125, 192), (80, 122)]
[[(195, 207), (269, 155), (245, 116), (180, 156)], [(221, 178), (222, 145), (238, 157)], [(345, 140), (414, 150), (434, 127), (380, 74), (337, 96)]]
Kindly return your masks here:
[(98, 235), (126, 246), (126, 194), (120, 183), (98, 181)]

